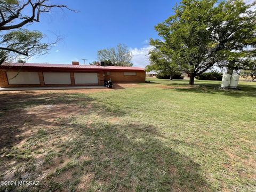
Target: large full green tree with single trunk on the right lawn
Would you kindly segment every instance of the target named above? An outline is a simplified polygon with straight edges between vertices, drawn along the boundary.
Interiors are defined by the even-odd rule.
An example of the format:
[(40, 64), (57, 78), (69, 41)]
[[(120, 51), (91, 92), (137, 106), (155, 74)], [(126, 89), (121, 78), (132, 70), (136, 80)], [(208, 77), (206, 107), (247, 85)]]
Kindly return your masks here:
[(214, 66), (233, 65), (255, 49), (255, 11), (242, 0), (183, 0), (175, 14), (155, 29), (161, 39), (150, 45), (194, 78)]

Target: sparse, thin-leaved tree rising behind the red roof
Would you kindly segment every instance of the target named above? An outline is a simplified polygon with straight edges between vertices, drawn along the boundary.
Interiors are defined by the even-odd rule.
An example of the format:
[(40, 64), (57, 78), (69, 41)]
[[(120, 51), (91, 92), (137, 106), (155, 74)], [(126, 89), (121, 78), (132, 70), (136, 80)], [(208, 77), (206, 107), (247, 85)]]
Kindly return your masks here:
[(133, 65), (131, 63), (132, 53), (124, 44), (118, 44), (116, 47), (99, 50), (98, 59), (100, 61), (108, 61), (113, 66), (131, 67)]

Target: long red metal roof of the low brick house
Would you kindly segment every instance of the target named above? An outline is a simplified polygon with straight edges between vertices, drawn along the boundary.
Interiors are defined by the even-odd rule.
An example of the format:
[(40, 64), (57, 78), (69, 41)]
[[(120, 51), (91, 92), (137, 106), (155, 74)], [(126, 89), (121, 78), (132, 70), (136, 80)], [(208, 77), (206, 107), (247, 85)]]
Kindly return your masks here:
[[(67, 65), (67, 64), (44, 64), (44, 63), (3, 63), (3, 68), (17, 68), (24, 69), (63, 69), (63, 70), (96, 70), (96, 71), (111, 71), (111, 70), (144, 70), (140, 67), (121, 67), (121, 66), (92, 66), (92, 65)], [(0, 66), (0, 68), (1, 68)]]

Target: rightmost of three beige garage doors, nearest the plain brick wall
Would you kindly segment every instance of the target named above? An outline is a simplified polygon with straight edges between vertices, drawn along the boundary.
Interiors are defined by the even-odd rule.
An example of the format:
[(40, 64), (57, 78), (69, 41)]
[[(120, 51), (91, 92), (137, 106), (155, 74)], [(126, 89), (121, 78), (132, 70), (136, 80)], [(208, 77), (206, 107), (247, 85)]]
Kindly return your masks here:
[(75, 84), (98, 84), (98, 73), (74, 73)]

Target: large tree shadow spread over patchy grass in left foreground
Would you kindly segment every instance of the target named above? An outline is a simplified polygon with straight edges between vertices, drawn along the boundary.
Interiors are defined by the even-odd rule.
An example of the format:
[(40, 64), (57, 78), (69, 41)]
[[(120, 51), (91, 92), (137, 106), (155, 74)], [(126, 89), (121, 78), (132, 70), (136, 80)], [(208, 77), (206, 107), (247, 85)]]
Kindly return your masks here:
[[(18, 99), (18, 104), (15, 100), (10, 101), (13, 106), (9, 106), (11, 109), (7, 111), (22, 108), (16, 115), (24, 113), (25, 116), (20, 118), (26, 121), (24, 124), (17, 124), (14, 130), (22, 132), (26, 127), (26, 131), (32, 132), (23, 135), (21, 140), (25, 142), (19, 150), (11, 149), (11, 146), (18, 144), (17, 141), (5, 146), (5, 152), (1, 155), (1, 165), (4, 165), (1, 170), (13, 169), (22, 164), (26, 169), (21, 169), (10, 179), (39, 180), (41, 186), (12, 186), (10, 191), (211, 190), (201, 166), (168, 146), (157, 127), (119, 119), (127, 110), (119, 111), (117, 108), (113, 109), (115, 113), (106, 111), (103, 103), (94, 103), (94, 99), (79, 94), (58, 94), (54, 95), (57, 97), (55, 99), (45, 99), (52, 97), (52, 94), (30, 97), (21, 95), (20, 99), (27, 100), (20, 103)], [(79, 108), (71, 106), (76, 113), (68, 111), (70, 115), (65, 114), (61, 108), (60, 113), (58, 110), (55, 110), (55, 113), (52, 113), (52, 110), (34, 110), (33, 113), (25, 110), (32, 110), (34, 106), (60, 106), (70, 102), (76, 102), (80, 105), (79, 108), (85, 110), (77, 111)], [(5, 105), (10, 103), (7, 101)], [(46, 114), (50, 116), (45, 116)], [(113, 119), (109, 119), (110, 117)], [(38, 125), (35, 125), (35, 122), (38, 122)], [(33, 132), (37, 129), (39, 131)], [(11, 151), (11, 156), (6, 155), (8, 150)], [(28, 150), (28, 159), (18, 158)], [(41, 150), (42, 153), (38, 155), (36, 151)], [(30, 165), (33, 165), (31, 169)], [(2, 189), (5, 190), (0, 188)]]

